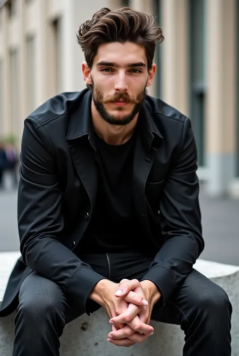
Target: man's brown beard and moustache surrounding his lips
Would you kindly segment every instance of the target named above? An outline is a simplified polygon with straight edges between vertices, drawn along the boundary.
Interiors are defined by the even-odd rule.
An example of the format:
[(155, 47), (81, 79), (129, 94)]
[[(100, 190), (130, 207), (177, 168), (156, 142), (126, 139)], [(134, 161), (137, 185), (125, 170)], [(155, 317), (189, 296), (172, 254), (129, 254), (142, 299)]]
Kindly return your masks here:
[[(88, 86), (88, 89), (90, 89), (92, 92), (94, 106), (97, 112), (99, 113), (99, 115), (101, 116), (101, 118), (110, 125), (121, 125), (121, 126), (128, 125), (134, 119), (135, 115), (138, 114), (138, 112), (142, 108), (145, 96), (147, 94), (146, 85), (144, 89), (137, 95), (136, 98), (134, 96), (130, 96), (126, 92), (115, 93), (114, 95), (107, 95), (105, 98), (103, 98), (102, 93), (99, 90), (95, 89), (93, 81), (92, 81), (92, 85)], [(115, 103), (115, 101), (118, 101), (120, 99), (123, 99), (124, 101), (126, 101), (126, 103), (134, 104), (132, 111), (128, 115), (125, 115), (122, 118), (118, 118), (115, 115), (109, 114), (108, 111), (105, 109), (105, 104)], [(117, 111), (123, 112), (124, 108), (118, 107)]]

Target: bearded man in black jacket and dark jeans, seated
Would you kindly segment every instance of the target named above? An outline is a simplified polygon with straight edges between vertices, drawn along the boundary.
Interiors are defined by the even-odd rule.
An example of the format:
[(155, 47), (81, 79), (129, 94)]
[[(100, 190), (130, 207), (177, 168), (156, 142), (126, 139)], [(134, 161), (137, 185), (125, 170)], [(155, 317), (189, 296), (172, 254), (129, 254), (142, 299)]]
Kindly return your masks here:
[(204, 242), (191, 123), (146, 94), (162, 30), (104, 8), (77, 37), (87, 89), (24, 125), (22, 258), (2, 304), (17, 308), (14, 355), (58, 355), (65, 324), (102, 306), (116, 346), (150, 337), (154, 319), (181, 325), (184, 355), (229, 356), (228, 297), (193, 269)]

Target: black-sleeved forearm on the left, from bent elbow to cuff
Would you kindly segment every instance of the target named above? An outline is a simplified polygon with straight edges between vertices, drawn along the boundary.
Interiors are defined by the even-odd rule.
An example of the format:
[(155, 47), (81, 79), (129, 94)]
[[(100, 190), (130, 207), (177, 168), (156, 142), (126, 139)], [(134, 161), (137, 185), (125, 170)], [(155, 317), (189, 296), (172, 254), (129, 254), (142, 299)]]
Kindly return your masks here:
[(31, 243), (22, 244), (21, 250), (29, 268), (55, 282), (82, 306), (92, 288), (104, 278), (52, 237), (35, 238)]

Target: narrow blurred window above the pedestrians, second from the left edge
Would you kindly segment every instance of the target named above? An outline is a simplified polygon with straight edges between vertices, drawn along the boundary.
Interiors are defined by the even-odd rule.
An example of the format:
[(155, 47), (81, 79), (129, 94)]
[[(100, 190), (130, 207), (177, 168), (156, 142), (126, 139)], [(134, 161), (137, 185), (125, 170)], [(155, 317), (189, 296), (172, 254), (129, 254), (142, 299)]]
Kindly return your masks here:
[(19, 70), (18, 52), (10, 50), (10, 99), (11, 99), (11, 128), (14, 136), (18, 135), (19, 120)]

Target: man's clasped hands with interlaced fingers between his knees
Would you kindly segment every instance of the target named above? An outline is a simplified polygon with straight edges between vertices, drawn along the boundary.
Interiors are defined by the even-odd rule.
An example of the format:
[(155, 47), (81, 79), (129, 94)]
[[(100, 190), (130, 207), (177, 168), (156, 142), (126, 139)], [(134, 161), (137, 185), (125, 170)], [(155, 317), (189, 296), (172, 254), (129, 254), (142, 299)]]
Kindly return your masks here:
[(112, 325), (107, 341), (125, 347), (143, 342), (154, 331), (149, 323), (153, 306), (160, 298), (159, 290), (149, 280), (123, 279), (120, 284), (113, 284), (117, 290), (103, 304)]

